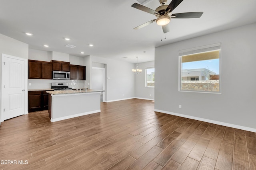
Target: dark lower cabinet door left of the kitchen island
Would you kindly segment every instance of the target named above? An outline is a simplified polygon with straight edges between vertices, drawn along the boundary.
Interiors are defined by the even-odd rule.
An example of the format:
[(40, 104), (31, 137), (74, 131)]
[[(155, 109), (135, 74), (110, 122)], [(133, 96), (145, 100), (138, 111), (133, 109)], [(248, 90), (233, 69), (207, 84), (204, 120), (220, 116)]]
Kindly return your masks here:
[(42, 91), (28, 92), (28, 112), (42, 110)]

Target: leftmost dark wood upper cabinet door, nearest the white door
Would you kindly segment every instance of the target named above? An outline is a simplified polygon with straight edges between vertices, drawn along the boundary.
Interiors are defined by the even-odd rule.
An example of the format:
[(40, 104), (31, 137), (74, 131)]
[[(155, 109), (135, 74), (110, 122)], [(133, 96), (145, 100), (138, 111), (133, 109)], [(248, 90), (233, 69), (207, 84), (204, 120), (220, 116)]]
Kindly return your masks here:
[(28, 78), (41, 78), (42, 63), (40, 61), (28, 61)]

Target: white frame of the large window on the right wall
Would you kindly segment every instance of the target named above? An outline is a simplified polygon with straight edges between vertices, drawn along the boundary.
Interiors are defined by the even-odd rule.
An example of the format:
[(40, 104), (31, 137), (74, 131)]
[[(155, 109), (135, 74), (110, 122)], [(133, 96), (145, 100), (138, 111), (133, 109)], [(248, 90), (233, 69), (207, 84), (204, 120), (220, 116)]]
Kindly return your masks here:
[[(214, 51), (214, 50), (219, 50), (219, 91), (204, 91), (204, 90), (184, 90), (182, 89), (182, 56), (184, 55), (193, 55), (196, 53), (203, 53), (203, 52), (208, 52), (208, 51)], [(216, 43), (212, 45), (205, 45), (201, 47), (195, 47), (191, 49), (185, 49), (185, 50), (180, 50), (179, 55), (179, 66), (178, 66), (178, 91), (179, 92), (197, 92), (197, 93), (212, 93), (212, 94), (221, 94), (221, 43)], [(198, 60), (200, 61), (200, 60)]]

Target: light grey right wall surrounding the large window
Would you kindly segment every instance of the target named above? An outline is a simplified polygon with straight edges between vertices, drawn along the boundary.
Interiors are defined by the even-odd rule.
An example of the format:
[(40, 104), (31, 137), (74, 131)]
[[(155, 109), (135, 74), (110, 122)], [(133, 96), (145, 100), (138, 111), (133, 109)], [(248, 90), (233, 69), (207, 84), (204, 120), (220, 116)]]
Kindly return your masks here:
[[(255, 40), (256, 23), (156, 48), (155, 109), (256, 131)], [(222, 93), (178, 92), (178, 51), (214, 43), (221, 43)]]

